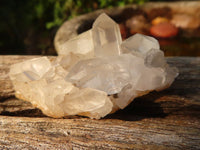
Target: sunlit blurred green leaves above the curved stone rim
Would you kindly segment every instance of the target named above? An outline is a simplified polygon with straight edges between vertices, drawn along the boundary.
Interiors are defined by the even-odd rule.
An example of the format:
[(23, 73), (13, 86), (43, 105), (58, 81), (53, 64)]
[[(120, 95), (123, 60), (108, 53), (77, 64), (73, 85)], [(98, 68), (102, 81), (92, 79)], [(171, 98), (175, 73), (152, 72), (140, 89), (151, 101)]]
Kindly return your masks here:
[[(96, 9), (124, 6), (126, 4), (143, 4), (148, 0), (39, 0), (35, 5), (38, 18), (42, 18), (47, 10), (51, 9), (52, 18), (46, 22), (46, 28), (50, 29), (59, 26), (64, 20), (73, 18), (77, 15), (88, 13)], [(51, 6), (51, 8), (49, 8)]]

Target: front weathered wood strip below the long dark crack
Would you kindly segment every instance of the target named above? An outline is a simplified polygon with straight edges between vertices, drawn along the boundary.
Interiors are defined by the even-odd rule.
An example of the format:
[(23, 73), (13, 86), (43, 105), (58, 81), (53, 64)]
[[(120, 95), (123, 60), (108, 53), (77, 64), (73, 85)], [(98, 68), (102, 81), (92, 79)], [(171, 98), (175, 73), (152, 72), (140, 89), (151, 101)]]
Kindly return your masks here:
[(0, 123), (0, 142), (6, 148), (199, 148), (196, 121), (192, 128), (184, 120), (161, 118), (121, 121), (1, 117)]

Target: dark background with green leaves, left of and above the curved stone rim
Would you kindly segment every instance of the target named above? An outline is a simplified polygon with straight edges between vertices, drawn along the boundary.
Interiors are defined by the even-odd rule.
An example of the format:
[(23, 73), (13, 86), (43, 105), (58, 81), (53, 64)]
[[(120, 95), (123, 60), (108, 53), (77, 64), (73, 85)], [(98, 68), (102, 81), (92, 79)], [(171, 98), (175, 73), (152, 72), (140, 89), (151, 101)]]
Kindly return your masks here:
[[(96, 9), (146, 1), (1, 0), (0, 54), (41, 54), (41, 49), (53, 43), (55, 31), (65, 20)], [(47, 36), (51, 41), (44, 40)]]

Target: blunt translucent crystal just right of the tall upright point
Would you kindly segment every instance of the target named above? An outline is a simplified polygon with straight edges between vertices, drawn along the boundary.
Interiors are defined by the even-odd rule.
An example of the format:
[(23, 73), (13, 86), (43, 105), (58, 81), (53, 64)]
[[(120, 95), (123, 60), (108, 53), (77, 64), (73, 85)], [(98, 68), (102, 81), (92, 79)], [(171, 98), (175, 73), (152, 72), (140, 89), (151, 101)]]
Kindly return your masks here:
[(153, 37), (139, 33), (126, 39), (121, 44), (121, 49), (123, 52), (132, 52), (137, 56), (145, 56), (145, 54), (152, 48), (160, 49), (159, 42)]

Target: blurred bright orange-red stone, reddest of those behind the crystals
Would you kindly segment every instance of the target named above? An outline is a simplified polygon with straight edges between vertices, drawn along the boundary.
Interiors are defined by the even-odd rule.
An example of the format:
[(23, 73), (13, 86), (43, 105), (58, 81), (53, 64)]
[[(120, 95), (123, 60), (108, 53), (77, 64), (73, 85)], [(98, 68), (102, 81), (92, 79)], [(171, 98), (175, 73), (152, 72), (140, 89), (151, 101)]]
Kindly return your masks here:
[(151, 35), (160, 38), (170, 38), (178, 34), (178, 28), (168, 22), (154, 25), (150, 28)]

